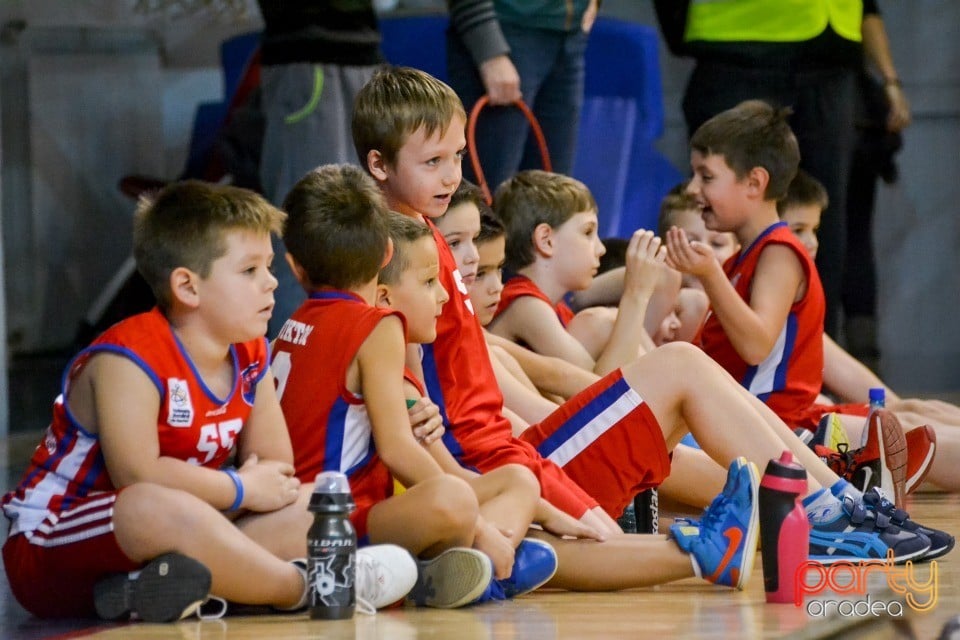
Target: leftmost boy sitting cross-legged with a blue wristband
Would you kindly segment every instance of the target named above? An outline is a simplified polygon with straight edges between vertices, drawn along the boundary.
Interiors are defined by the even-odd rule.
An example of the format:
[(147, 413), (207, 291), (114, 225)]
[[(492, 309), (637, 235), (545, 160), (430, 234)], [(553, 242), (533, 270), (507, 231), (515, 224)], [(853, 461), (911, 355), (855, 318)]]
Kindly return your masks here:
[[(306, 527), (289, 526), (303, 491), (263, 338), (270, 233), (284, 217), (253, 192), (201, 182), (140, 202), (134, 256), (158, 306), (74, 358), (2, 501), (6, 573), (31, 613), (165, 622), (210, 594), (305, 606), (306, 575), (288, 562), (306, 553)], [(237, 469), (224, 466), (234, 448)], [(403, 553), (362, 555), (377, 564), (381, 551)]]

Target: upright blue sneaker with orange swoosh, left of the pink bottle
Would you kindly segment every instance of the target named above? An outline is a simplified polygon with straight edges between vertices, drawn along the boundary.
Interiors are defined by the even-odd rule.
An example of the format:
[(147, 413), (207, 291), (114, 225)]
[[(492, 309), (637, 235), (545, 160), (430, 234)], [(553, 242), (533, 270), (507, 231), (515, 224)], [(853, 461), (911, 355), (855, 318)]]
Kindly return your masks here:
[(757, 492), (759, 473), (752, 462), (737, 458), (719, 496), (699, 521), (678, 519), (670, 527), (677, 545), (693, 559), (697, 577), (743, 589), (753, 572), (760, 531)]

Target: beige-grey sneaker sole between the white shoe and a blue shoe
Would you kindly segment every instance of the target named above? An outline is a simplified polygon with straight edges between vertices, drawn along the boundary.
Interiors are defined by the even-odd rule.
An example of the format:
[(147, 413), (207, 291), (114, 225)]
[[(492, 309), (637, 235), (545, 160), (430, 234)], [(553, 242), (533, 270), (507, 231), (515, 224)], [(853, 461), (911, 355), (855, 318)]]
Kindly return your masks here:
[(493, 579), (493, 563), (476, 549), (447, 549), (436, 558), (419, 560), (417, 583), (407, 603), (437, 609), (455, 609), (483, 595)]

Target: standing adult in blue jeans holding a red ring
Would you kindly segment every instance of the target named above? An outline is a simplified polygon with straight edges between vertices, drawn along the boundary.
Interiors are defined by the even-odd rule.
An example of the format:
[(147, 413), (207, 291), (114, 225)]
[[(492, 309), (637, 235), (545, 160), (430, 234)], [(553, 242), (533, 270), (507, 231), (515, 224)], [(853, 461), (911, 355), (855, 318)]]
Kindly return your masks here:
[[(477, 125), (477, 153), (491, 190), (519, 170), (542, 168), (526, 118), (503, 106), (519, 98), (543, 129), (554, 171), (569, 175), (583, 105), (583, 56), (599, 0), (447, 4), (450, 86), (468, 111), (483, 94), (497, 105), (485, 110)], [(465, 167), (476, 180), (472, 173)]]

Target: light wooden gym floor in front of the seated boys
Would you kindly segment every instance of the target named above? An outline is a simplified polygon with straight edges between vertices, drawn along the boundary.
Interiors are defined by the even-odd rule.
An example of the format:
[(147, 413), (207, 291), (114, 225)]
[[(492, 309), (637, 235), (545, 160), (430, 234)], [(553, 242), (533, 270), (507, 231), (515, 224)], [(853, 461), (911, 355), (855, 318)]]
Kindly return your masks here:
[[(0, 478), (5, 491), (15, 481), (38, 442), (39, 433), (15, 434), (0, 443)], [(926, 493), (912, 498), (910, 512), (918, 521), (960, 532), (960, 495)], [(94, 620), (47, 621), (26, 613), (14, 600), (6, 579), (0, 580), (0, 638), (151, 638), (221, 640), (230, 638), (362, 638), (407, 640), (560, 640), (573, 638), (937, 638), (944, 623), (960, 613), (960, 551), (936, 561), (937, 602), (928, 613), (903, 604), (904, 616), (811, 616), (792, 604), (766, 604), (760, 559), (747, 589), (721, 589), (690, 579), (651, 589), (617, 593), (540, 591), (512, 602), (454, 611), (396, 609), (353, 620), (312, 621), (307, 614), (237, 615), (224, 620), (184, 621), (169, 625), (99, 624)], [(917, 565), (916, 578), (926, 581), (932, 563)], [(882, 574), (869, 577), (872, 603), (894, 600)], [(810, 600), (862, 601), (864, 595), (825, 592)], [(814, 607), (819, 605), (814, 604)], [(847, 605), (849, 608), (851, 605)], [(861, 605), (861, 608), (863, 605)], [(895, 605), (889, 605), (895, 609)], [(841, 608), (841, 611), (846, 609)]]

